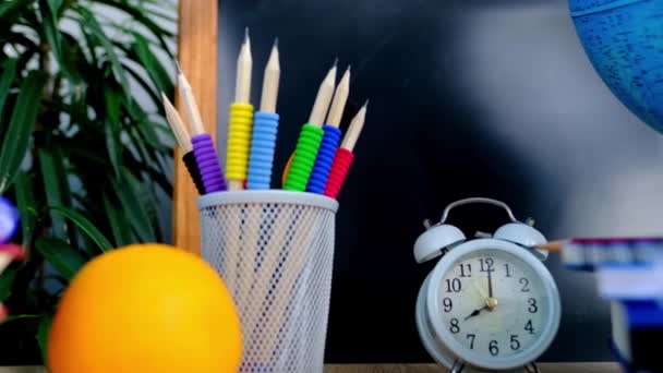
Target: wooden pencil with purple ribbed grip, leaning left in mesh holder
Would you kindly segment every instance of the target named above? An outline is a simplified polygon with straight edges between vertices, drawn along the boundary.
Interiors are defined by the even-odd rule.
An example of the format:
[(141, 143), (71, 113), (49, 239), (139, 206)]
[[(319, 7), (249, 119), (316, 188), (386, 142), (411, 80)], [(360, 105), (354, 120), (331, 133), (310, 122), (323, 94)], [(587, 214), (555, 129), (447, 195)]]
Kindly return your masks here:
[(189, 122), (193, 133), (193, 136), (191, 137), (193, 155), (200, 170), (201, 179), (203, 180), (205, 193), (225, 191), (227, 188), (226, 179), (224, 179), (224, 172), (221, 171), (221, 165), (219, 164), (214, 147), (214, 141), (203, 127), (201, 112), (198, 111), (198, 107), (193, 96), (193, 89), (191, 88), (186, 76), (184, 76), (179, 64), (177, 64), (177, 68), (180, 96), (182, 97), (185, 111), (189, 116)]

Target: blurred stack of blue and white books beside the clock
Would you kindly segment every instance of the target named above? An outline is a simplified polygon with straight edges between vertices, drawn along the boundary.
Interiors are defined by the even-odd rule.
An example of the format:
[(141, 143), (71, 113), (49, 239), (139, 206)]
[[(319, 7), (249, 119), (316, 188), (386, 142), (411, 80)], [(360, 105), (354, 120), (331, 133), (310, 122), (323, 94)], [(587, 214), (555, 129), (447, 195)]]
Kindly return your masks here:
[(627, 372), (663, 372), (663, 238), (571, 239), (566, 267), (596, 274), (611, 301), (613, 351)]

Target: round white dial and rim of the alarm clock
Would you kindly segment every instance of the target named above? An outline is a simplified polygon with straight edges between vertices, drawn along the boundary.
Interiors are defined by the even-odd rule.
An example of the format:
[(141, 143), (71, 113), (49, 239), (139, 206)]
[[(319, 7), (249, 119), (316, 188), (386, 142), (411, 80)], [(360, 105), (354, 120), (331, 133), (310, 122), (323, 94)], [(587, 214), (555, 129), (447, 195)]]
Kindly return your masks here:
[(431, 275), (427, 312), (439, 340), (485, 369), (535, 360), (559, 324), (552, 276), (526, 249), (498, 240), (467, 242)]

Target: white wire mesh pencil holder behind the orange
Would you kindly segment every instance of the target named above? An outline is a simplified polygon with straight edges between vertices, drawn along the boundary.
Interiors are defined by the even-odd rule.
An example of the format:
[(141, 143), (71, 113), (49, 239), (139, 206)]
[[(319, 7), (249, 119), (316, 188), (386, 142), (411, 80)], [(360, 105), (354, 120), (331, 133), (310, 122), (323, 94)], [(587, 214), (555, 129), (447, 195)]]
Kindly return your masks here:
[(202, 254), (242, 324), (240, 372), (323, 372), (335, 217), (329, 197), (288, 191), (198, 198)]

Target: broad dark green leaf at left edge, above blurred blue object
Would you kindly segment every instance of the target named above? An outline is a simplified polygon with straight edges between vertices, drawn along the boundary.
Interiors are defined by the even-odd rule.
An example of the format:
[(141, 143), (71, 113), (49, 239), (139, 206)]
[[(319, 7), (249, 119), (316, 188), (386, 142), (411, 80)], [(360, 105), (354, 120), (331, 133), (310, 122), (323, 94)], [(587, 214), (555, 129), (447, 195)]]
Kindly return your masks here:
[(21, 84), (12, 119), (0, 147), (0, 194), (11, 185), (29, 146), (29, 134), (39, 111), (36, 103), (40, 101), (45, 81), (43, 73), (33, 71)]

